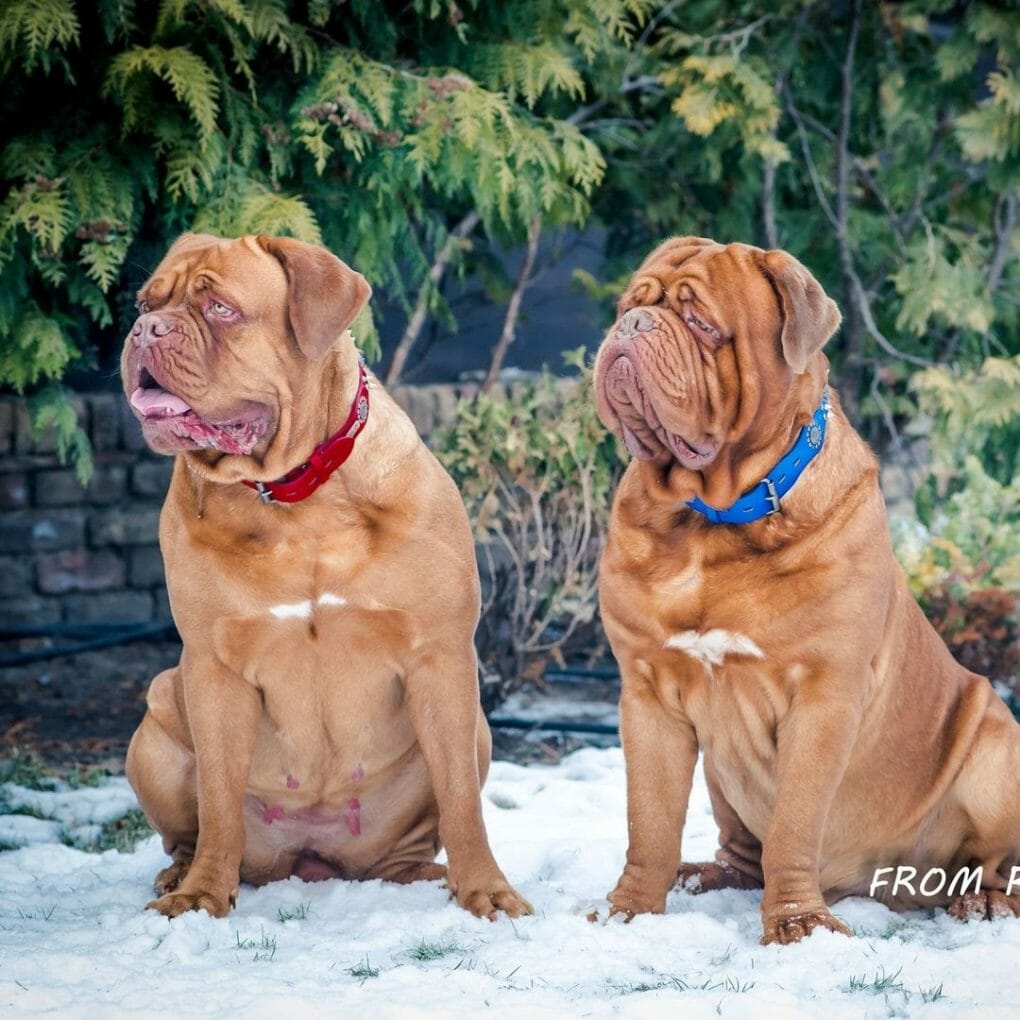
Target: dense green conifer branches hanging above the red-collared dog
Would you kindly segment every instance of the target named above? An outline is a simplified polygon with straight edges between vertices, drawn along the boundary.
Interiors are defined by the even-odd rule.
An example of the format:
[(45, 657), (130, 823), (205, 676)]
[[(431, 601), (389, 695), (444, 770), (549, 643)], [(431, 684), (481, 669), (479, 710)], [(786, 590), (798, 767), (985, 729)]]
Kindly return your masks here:
[[(185, 230), (323, 243), (449, 318), (428, 271), (465, 214), (455, 269), (590, 215), (605, 161), (570, 107), (652, 6), (0, 0), (0, 387), (112, 361)], [(49, 393), (36, 422), (84, 470)]]

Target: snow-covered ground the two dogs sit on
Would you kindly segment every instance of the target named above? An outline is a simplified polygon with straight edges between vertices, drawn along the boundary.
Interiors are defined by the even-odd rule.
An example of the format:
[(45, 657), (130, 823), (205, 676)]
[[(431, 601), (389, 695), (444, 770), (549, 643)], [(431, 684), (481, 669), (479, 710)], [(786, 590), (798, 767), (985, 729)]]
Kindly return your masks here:
[[(1020, 922), (896, 915), (864, 900), (836, 913), (856, 937), (758, 945), (759, 897), (672, 894), (664, 917), (591, 923), (625, 849), (623, 757), (494, 764), (486, 817), (496, 855), (536, 907), (476, 920), (438, 883), (296, 879), (243, 887), (224, 920), (167, 921), (142, 907), (165, 863), (153, 836), (90, 854), (99, 823), (134, 806), (126, 782), (64, 793), (0, 789), (0, 1015), (61, 1018), (1016, 1017)], [(701, 781), (685, 838), (716, 830)]]

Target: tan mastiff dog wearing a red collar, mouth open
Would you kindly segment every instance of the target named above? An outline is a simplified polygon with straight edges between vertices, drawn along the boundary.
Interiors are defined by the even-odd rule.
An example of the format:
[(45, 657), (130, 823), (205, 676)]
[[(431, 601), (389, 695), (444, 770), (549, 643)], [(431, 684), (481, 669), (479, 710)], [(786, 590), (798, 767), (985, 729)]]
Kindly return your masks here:
[(149, 904), (169, 917), (291, 875), (445, 878), (473, 914), (530, 912), (481, 817), (471, 530), (359, 361), (369, 293), (322, 248), (201, 235), (139, 292), (121, 370), (176, 457), (159, 538), (184, 651), (128, 777), (172, 858)]

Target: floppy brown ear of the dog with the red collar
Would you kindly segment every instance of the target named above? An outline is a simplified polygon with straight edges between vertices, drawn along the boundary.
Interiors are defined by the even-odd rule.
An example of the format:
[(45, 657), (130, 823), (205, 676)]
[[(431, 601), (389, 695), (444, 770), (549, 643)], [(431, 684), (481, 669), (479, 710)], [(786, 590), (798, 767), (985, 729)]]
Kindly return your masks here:
[(324, 357), (371, 297), (368, 282), (318, 245), (261, 234), (257, 241), (287, 273), (287, 311), (302, 353)]

